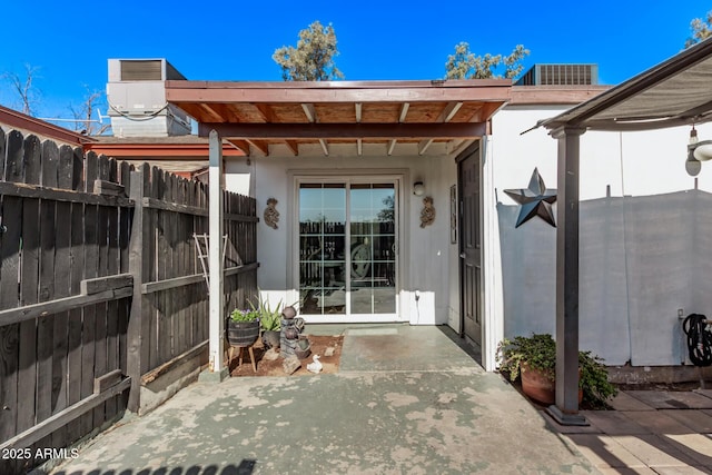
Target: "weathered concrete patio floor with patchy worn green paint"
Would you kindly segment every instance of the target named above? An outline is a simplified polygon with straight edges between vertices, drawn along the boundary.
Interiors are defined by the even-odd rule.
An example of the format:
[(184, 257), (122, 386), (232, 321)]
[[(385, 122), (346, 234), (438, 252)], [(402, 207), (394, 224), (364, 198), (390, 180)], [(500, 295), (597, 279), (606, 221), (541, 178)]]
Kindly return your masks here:
[(51, 473), (597, 473), (453, 336), (407, 325), (346, 330), (337, 374), (192, 384)]

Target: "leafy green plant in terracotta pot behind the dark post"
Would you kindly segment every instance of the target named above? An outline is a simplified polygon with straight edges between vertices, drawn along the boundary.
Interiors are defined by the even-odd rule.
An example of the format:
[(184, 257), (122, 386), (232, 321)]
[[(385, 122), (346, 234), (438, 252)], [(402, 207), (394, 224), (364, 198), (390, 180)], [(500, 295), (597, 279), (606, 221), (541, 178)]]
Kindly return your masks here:
[[(541, 403), (554, 403), (556, 342), (550, 334), (503, 339), (497, 347), (497, 362), (500, 372), (507, 373), (511, 382), (521, 379), (524, 394)], [(578, 352), (578, 388), (580, 404), (593, 408), (605, 408), (617, 394), (603, 359), (591, 352)]]

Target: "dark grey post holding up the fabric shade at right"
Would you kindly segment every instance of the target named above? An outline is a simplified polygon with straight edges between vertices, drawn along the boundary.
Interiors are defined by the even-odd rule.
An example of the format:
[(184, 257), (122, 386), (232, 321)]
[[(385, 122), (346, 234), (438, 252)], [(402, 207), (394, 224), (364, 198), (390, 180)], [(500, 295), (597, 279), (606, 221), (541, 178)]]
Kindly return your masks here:
[(556, 208), (556, 405), (564, 425), (589, 425), (578, 414), (578, 170), (584, 128), (552, 131), (558, 140)]

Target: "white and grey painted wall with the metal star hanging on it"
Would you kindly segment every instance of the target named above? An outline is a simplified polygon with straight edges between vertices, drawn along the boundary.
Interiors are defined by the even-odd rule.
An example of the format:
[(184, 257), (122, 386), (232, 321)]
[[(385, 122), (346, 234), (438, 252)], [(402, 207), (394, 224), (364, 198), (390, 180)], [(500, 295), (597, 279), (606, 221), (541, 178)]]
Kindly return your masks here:
[[(556, 231), (540, 219), (514, 228), (518, 206), (504, 189), (526, 188), (534, 168), (556, 188), (556, 140), (523, 136), (564, 108), (507, 107), (493, 119), (492, 181), (500, 232), (506, 336), (554, 333)], [(710, 126), (698, 127), (712, 138)], [(678, 309), (712, 314), (703, 247), (712, 165), (695, 180), (684, 170), (689, 127), (593, 132), (581, 138), (580, 346), (607, 364), (674, 365), (684, 359)], [(692, 190), (692, 191), (691, 191)]]

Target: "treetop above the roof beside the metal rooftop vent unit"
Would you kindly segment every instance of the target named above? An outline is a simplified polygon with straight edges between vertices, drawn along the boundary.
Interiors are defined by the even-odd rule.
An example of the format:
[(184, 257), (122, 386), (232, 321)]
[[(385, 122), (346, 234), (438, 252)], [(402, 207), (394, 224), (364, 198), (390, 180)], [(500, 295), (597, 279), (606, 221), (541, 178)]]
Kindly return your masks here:
[(475, 56), (469, 51), (469, 43), (461, 42), (455, 46), (455, 55), (447, 57), (445, 62), (445, 79), (488, 79), (501, 78), (495, 70), (504, 66), (504, 77), (516, 78), (522, 73), (522, 59), (530, 53), (524, 46), (517, 44), (508, 56)]

